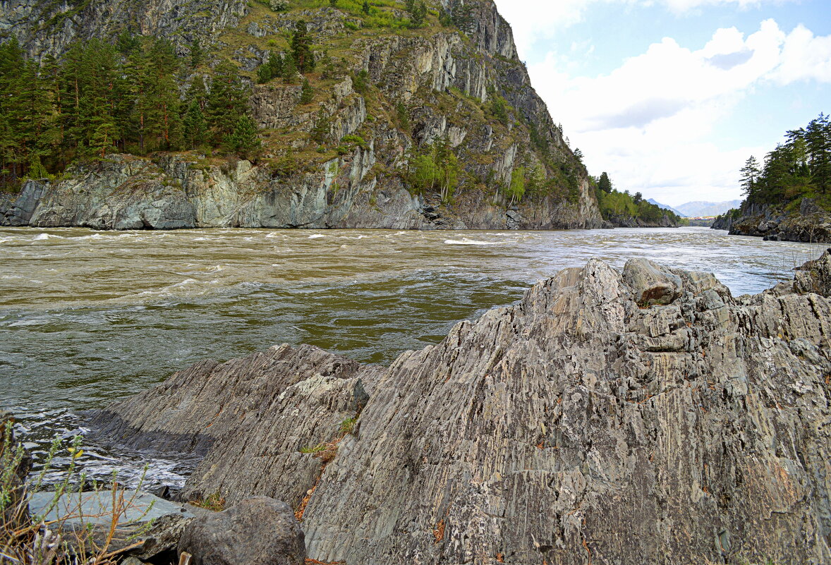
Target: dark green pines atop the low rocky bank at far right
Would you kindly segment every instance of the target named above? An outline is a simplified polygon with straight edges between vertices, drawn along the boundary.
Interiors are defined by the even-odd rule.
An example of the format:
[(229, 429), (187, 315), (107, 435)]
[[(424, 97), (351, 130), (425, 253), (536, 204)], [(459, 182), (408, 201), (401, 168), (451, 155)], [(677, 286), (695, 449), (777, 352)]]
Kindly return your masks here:
[(754, 156), (741, 168), (740, 183), (748, 202), (788, 204), (815, 198), (831, 209), (831, 121), (820, 114), (804, 128), (789, 130), (784, 143), (765, 155)]

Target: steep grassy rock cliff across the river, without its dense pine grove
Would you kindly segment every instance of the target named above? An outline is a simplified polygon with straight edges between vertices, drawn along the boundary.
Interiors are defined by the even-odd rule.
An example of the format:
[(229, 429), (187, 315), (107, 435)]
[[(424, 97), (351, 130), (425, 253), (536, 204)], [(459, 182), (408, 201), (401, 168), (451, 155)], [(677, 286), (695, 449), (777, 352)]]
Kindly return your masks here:
[[(253, 164), (196, 154), (149, 160), (111, 155), (50, 184), (31, 225), (603, 224), (586, 171), (531, 87), (511, 29), (493, 2), (468, 2), (464, 32), (440, 26), (432, 16), (418, 30), (366, 27), (346, 9), (306, 7), (311, 3), (288, 2), (288, 12), (260, 2), (0, 3), (0, 34), (17, 37), (36, 57), (60, 56), (72, 41), (115, 37), (126, 29), (169, 37), (183, 55), (199, 39), (212, 61), (228, 56), (251, 77), (269, 51), (288, 49), (285, 38), (302, 17), (322, 61), (322, 70), (309, 75), (310, 103), (301, 102), (300, 86), (251, 81), (251, 112), (263, 135), (263, 155)], [(361, 73), (367, 84), (356, 87), (353, 79)], [(198, 78), (195, 73), (186, 82)], [(506, 110), (494, 115), (492, 106), (500, 101)], [(455, 194), (445, 199), (406, 182), (411, 155), (439, 141), (450, 145), (461, 165)], [(508, 192), (518, 175), (534, 176), (537, 184), (521, 200)], [(143, 209), (158, 212), (148, 218)]]

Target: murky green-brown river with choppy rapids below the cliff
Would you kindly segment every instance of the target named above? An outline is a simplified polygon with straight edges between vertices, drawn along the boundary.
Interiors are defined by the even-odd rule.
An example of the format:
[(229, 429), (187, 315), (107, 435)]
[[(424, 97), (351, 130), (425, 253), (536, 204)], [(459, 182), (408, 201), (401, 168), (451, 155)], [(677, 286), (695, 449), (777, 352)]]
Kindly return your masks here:
[[(824, 248), (824, 246), (823, 246)], [(550, 232), (0, 228), (0, 406), (37, 458), (78, 413), (195, 361), (288, 342), (389, 363), (455, 322), (518, 300), (561, 268), (629, 258), (715, 273), (760, 292), (823, 248), (707, 228)], [(68, 455), (50, 475), (57, 479)], [(189, 462), (87, 445), (106, 478), (179, 485)]]

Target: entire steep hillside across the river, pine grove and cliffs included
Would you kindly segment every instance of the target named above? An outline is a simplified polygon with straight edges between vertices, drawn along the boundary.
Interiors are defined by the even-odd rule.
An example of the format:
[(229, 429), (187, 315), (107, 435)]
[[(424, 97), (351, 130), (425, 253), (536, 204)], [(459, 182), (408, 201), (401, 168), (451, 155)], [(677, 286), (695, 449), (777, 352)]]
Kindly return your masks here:
[[(70, 213), (126, 204), (105, 184), (84, 203), (61, 184), (128, 153), (194, 207), (182, 226), (602, 224), (582, 155), (490, 0), (174, 4), (0, 11), (0, 180), (57, 182), (14, 222), (136, 224)], [(241, 159), (250, 174), (228, 176)], [(208, 194), (216, 183), (228, 189)]]

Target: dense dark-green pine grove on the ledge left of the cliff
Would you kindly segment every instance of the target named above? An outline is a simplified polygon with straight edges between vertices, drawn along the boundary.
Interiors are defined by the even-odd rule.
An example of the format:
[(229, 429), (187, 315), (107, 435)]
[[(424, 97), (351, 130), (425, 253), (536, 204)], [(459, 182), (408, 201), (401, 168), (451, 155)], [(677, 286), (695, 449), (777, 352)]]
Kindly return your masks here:
[[(206, 85), (165, 39), (122, 33), (114, 43), (73, 44), (40, 64), (15, 39), (0, 44), (0, 184), (60, 172), (76, 158), (111, 152), (258, 147), (248, 87), (222, 61)], [(192, 75), (186, 90), (185, 76)]]

